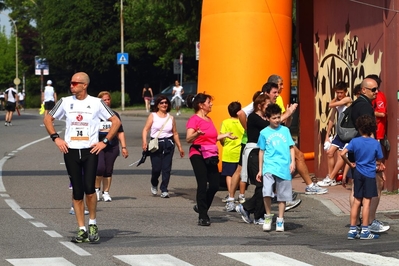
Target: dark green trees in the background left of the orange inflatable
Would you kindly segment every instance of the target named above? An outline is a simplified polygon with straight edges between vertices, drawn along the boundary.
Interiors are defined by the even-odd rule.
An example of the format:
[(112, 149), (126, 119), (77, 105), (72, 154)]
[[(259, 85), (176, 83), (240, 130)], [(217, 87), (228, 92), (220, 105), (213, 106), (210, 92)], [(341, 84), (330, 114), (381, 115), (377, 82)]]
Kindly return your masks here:
[[(121, 51), (118, 0), (0, 0), (17, 22), (19, 73), (25, 73), (27, 95), (37, 93), (40, 77), (34, 74), (34, 56), (47, 58), (57, 93), (68, 92), (71, 76), (85, 71), (93, 91), (120, 83), (116, 53)], [(184, 80), (196, 80), (201, 0), (124, 0), (126, 92), (141, 102), (144, 83), (158, 90), (171, 83), (173, 59), (184, 53)], [(32, 26), (33, 25), (33, 26)], [(1, 37), (0, 37), (1, 39)], [(6, 38), (7, 39), (7, 38)], [(0, 84), (15, 77), (12, 38), (0, 40)], [(14, 43), (15, 44), (15, 43)], [(14, 59), (13, 59), (14, 58)], [(3, 71), (4, 70), (4, 71)]]

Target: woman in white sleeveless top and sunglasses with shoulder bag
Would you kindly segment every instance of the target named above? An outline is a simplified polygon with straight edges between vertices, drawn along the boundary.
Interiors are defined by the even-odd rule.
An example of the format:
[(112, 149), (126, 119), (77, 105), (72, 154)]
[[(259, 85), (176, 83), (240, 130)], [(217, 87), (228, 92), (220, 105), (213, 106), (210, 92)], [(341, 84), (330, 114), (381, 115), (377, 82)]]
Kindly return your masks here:
[(165, 95), (160, 95), (154, 104), (152, 112), (145, 123), (142, 132), (143, 151), (147, 151), (147, 135), (150, 131), (151, 139), (158, 139), (158, 150), (151, 152), (151, 193), (158, 194), (159, 176), (162, 173), (162, 182), (160, 186), (161, 198), (169, 198), (168, 184), (170, 180), (170, 171), (172, 170), (172, 158), (175, 152), (175, 144), (180, 152), (180, 157), (184, 156), (184, 150), (180, 144), (179, 134), (176, 130), (176, 122), (169, 114), (171, 104)]

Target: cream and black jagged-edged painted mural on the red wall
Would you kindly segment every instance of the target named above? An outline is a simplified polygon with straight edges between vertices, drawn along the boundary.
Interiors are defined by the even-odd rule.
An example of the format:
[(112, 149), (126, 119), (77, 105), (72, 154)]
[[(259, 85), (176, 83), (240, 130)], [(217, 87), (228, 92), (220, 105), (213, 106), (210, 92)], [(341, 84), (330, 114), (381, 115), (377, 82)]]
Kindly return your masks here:
[[(323, 155), (323, 143), (331, 113), (328, 103), (335, 97), (333, 88), (339, 81), (346, 82), (348, 92), (352, 95), (353, 88), (369, 74), (381, 73), (382, 51), (371, 51), (372, 43), (362, 42), (361, 36), (351, 37), (349, 26), (346, 25), (345, 36), (339, 39), (336, 33), (322, 40), (318, 33), (315, 35), (315, 52), (317, 58), (316, 81), (316, 121), (318, 124), (318, 156), (320, 163)], [(333, 130), (333, 132), (335, 132)], [(316, 158), (315, 158), (316, 159)]]

